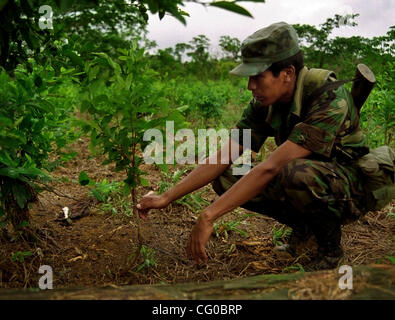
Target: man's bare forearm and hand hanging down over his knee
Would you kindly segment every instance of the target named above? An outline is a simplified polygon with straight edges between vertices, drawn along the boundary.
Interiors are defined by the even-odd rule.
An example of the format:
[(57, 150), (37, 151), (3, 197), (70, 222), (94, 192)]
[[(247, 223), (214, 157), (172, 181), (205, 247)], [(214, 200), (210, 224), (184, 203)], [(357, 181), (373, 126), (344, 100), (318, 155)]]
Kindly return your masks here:
[(291, 141), (284, 142), (267, 160), (243, 176), (200, 214), (187, 243), (187, 255), (193, 257), (196, 263), (199, 260), (206, 263), (205, 247), (213, 231), (214, 221), (262, 192), (288, 162), (306, 158), (310, 154), (311, 151)]

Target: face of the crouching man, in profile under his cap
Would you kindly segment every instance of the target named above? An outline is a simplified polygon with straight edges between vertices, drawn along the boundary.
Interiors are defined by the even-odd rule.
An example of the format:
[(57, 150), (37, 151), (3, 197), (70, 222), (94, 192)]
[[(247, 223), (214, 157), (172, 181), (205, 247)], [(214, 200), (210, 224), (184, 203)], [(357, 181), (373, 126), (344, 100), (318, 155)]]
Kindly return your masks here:
[(283, 102), (282, 100), (288, 92), (288, 86), (284, 81), (283, 71), (278, 77), (274, 77), (270, 70), (266, 70), (249, 78), (248, 90), (262, 106), (268, 107), (275, 102)]

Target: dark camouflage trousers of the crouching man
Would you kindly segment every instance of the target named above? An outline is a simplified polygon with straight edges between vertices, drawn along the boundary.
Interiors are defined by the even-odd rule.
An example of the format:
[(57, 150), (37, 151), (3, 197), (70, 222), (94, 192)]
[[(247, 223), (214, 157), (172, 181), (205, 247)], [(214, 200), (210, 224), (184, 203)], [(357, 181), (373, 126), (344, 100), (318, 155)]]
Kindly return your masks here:
[[(229, 168), (212, 183), (218, 195), (242, 176)], [(360, 173), (336, 162), (296, 159), (243, 208), (270, 216), (293, 229), (307, 227), (321, 247), (340, 246), (341, 225), (368, 210)]]

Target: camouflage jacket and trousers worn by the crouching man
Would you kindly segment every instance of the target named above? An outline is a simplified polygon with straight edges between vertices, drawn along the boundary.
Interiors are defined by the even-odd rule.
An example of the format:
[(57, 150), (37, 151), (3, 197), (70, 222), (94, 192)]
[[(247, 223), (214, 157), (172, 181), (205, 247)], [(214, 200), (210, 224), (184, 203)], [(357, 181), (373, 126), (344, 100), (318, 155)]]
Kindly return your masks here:
[[(298, 75), (294, 99), (288, 108), (262, 107), (253, 100), (237, 127), (251, 129), (251, 149), (255, 152), (267, 137), (274, 137), (277, 145), (289, 140), (312, 151), (308, 159), (288, 163), (243, 207), (294, 229), (308, 226), (319, 246), (331, 250), (340, 245), (341, 224), (368, 211), (371, 197), (353, 163), (369, 149), (352, 97), (343, 86), (306, 105), (312, 92), (322, 85), (312, 76), (320, 73), (327, 75), (325, 82), (335, 80), (330, 71), (305, 67)], [(214, 190), (222, 194), (239, 178), (229, 169), (214, 181)]]

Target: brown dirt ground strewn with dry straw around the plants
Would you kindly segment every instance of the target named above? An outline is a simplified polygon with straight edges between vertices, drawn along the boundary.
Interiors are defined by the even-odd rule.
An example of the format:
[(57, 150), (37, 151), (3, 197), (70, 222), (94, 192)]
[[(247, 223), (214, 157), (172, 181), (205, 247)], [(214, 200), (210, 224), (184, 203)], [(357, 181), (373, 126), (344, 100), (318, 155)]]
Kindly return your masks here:
[[(90, 154), (87, 139), (79, 139), (72, 148), (78, 156), (53, 173), (63, 181), (52, 182), (53, 192), (42, 192), (31, 209), (31, 225), (40, 230), (42, 241), (31, 247), (24, 241), (10, 242), (0, 236), (0, 287), (38, 287), (42, 265), (52, 267), (54, 288), (64, 288), (226, 280), (296, 272), (308, 262), (308, 254), (295, 259), (273, 251), (272, 230), (279, 229), (281, 224), (238, 209), (221, 221), (240, 221), (237, 228), (245, 234), (229, 231), (213, 235), (207, 245), (208, 264), (195, 266), (185, 255), (185, 245), (199, 212), (182, 204), (171, 204), (164, 210), (154, 210), (148, 222), (141, 222), (144, 244), (154, 250), (156, 267), (137, 272), (136, 267), (144, 261), (140, 257), (137, 264), (131, 265), (131, 254), (137, 245), (135, 217), (105, 212), (103, 205), (90, 196), (88, 188), (78, 184), (82, 170), (96, 181), (122, 181), (123, 174), (114, 173), (111, 165), (102, 166), (104, 159)], [(140, 187), (138, 198), (149, 190), (158, 190), (161, 181), (155, 166), (144, 165), (143, 170), (149, 173), (146, 178), (151, 186)], [(217, 196), (209, 187), (203, 197), (211, 202)], [(66, 206), (71, 213), (79, 212), (83, 217), (71, 223), (58, 221)], [(248, 213), (250, 216), (246, 217)], [(391, 204), (343, 227), (345, 264), (391, 263), (388, 257), (393, 257), (395, 251), (394, 213)], [(30, 255), (26, 254), (22, 261), (15, 258), (18, 252)]]

